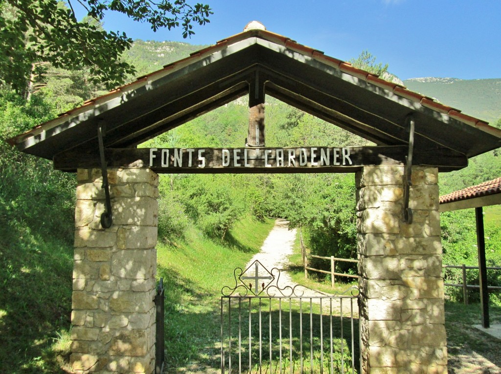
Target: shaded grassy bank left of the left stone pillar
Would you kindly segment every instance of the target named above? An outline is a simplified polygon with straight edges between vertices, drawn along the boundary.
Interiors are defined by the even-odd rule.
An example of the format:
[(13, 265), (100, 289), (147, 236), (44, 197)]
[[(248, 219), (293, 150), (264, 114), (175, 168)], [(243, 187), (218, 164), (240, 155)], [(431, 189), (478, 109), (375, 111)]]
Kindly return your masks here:
[(73, 248), (0, 228), (0, 372), (69, 372)]

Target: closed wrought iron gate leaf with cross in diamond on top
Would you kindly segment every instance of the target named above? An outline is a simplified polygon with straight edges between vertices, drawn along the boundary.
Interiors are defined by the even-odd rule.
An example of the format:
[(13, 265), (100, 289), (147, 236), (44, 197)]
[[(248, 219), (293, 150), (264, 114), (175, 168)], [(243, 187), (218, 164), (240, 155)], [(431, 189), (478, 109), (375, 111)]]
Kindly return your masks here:
[(358, 288), (305, 294), (258, 260), (234, 278), (221, 290), (222, 374), (356, 372)]

